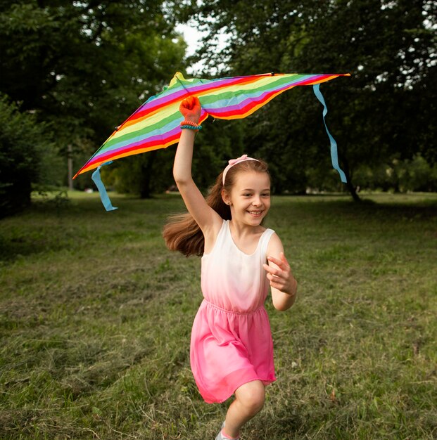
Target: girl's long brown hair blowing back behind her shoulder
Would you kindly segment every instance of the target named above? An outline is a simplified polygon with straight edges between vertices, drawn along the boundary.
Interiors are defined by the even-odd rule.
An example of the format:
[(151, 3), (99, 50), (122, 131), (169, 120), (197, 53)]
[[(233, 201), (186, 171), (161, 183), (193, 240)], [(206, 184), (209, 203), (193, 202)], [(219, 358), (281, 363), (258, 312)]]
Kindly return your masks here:
[[(231, 208), (223, 202), (222, 190), (224, 189), (230, 193), (232, 186), (234, 186), (236, 175), (240, 172), (269, 174), (267, 163), (263, 160), (246, 160), (229, 168), (224, 185), (222, 183), (223, 172), (217, 176), (215, 184), (208, 191), (205, 202), (224, 220), (231, 220), (232, 216)], [(163, 237), (165, 245), (167, 245), (169, 250), (182, 252), (186, 257), (190, 255), (198, 255), (200, 257), (203, 254), (205, 238), (201, 228), (199, 228), (189, 212), (170, 216), (163, 228)]]

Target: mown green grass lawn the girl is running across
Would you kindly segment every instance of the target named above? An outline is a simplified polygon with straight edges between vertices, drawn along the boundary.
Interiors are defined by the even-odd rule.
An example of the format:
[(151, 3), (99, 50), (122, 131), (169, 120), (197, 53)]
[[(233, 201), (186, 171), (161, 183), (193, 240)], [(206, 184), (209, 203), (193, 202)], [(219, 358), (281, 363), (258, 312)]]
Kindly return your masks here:
[[(242, 440), (437, 438), (437, 195), (274, 198), (299, 282), (267, 300), (277, 382)], [(0, 221), (0, 439), (214, 439), (189, 368), (200, 261), (177, 195), (39, 201)]]

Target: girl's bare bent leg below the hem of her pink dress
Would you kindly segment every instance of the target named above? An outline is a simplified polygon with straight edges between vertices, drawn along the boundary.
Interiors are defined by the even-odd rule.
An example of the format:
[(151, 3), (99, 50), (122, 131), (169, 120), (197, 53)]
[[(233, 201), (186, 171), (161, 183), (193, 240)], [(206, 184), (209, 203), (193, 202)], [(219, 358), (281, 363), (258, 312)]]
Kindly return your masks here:
[(260, 412), (265, 401), (265, 386), (260, 380), (241, 385), (226, 415), (224, 433), (236, 439), (241, 427)]

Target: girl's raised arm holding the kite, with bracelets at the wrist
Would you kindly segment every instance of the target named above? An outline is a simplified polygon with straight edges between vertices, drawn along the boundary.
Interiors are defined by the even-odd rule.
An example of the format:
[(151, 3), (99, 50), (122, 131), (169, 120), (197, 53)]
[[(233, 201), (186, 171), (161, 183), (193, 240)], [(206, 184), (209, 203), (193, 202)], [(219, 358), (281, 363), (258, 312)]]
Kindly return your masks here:
[[(190, 96), (184, 99), (179, 110), (181, 110), (186, 120), (198, 124), (201, 115), (201, 105), (198, 98)], [(222, 217), (205, 202), (205, 198), (203, 198), (191, 176), (195, 137), (196, 131), (182, 129), (181, 138), (177, 145), (175, 164), (173, 165), (173, 176), (179, 193), (184, 199), (186, 209), (201, 228), (206, 243), (215, 241), (215, 237), (222, 227)]]

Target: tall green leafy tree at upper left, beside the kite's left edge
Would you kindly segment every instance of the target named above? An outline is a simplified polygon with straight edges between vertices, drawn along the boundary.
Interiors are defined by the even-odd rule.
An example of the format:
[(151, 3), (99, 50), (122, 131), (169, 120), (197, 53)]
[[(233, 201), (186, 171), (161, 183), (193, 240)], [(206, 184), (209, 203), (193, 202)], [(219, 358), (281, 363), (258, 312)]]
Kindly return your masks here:
[(184, 67), (185, 44), (164, 5), (0, 1), (0, 91), (49, 124), (61, 154), (70, 144), (84, 162)]

